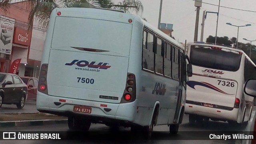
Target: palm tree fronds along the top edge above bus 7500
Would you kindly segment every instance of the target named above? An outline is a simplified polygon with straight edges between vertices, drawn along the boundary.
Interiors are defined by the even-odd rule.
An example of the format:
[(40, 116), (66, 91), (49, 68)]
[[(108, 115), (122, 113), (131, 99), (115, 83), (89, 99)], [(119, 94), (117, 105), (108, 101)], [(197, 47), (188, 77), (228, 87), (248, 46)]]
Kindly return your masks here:
[[(5, 2), (4, 2), (5, 1)], [(0, 9), (8, 10), (11, 0), (4, 0), (0, 3)], [(25, 1), (25, 0), (24, 0)], [(83, 8), (111, 8), (124, 10), (124, 12), (135, 12), (142, 15), (143, 6), (140, 0), (123, 0), (114, 4), (112, 0), (28, 0), (32, 7), (29, 16), (29, 27), (33, 26), (34, 17), (41, 26), (46, 29), (50, 20), (50, 14), (54, 8), (83, 7)]]

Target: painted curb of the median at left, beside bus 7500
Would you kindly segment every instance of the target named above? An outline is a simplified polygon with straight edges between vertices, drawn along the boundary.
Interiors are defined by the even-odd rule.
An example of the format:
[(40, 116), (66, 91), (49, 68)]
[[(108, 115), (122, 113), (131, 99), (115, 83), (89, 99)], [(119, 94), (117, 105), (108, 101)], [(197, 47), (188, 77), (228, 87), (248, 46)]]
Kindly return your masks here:
[(66, 124), (68, 119), (63, 120), (22, 120), (22, 121), (9, 121), (0, 122), (1, 127), (14, 127), (14, 126), (42, 126), (48, 124)]

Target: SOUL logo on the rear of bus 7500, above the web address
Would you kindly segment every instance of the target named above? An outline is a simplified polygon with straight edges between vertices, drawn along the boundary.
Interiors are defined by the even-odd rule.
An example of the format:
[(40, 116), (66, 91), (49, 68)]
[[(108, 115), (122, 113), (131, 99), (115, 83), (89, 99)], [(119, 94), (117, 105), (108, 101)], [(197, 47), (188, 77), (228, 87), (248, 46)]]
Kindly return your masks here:
[(72, 66), (73, 64), (76, 64), (79, 67), (85, 67), (87, 66), (88, 68), (100, 68), (100, 69), (108, 69), (111, 66), (107, 66), (108, 63), (104, 62), (99, 62), (98, 64), (95, 64), (96, 62), (88, 62), (86, 60), (73, 60), (70, 63), (66, 63), (65, 65), (67, 66)]

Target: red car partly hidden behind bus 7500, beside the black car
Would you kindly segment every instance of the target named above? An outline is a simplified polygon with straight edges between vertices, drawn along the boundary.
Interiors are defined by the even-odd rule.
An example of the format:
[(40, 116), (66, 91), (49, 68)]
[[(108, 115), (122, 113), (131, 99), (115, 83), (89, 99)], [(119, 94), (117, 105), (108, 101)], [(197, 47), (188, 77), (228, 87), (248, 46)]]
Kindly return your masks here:
[(29, 76), (20, 76), (25, 84), (28, 85), (28, 97), (27, 100), (36, 100), (38, 79)]

